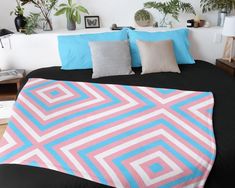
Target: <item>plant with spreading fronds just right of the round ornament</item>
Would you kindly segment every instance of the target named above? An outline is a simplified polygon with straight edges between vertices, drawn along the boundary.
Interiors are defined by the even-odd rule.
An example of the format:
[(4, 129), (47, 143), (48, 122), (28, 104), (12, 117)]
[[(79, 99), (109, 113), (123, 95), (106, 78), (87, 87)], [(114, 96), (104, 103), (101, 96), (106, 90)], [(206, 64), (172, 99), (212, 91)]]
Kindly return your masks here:
[(175, 20), (179, 21), (179, 13), (193, 13), (195, 15), (195, 10), (190, 3), (184, 3), (180, 0), (170, 0), (168, 2), (146, 2), (144, 3), (145, 8), (154, 8), (163, 14), (163, 19), (160, 22), (161, 27), (168, 25), (166, 18), (171, 15)]

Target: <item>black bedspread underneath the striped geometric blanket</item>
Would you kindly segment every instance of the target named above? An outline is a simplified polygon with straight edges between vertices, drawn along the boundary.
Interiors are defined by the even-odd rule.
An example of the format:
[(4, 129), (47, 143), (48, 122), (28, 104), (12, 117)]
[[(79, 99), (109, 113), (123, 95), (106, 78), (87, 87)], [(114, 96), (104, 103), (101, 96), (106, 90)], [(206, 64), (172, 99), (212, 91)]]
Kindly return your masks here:
[[(62, 71), (60, 67), (43, 68), (31, 72), (27, 78), (85, 81), (110, 84), (211, 91), (215, 97), (213, 115), (217, 156), (206, 187), (235, 187), (235, 78), (215, 66), (197, 61), (195, 65), (181, 65), (181, 74), (155, 73), (91, 79), (91, 70)], [(40, 168), (0, 165), (1, 188), (74, 188), (100, 185), (78, 177)]]

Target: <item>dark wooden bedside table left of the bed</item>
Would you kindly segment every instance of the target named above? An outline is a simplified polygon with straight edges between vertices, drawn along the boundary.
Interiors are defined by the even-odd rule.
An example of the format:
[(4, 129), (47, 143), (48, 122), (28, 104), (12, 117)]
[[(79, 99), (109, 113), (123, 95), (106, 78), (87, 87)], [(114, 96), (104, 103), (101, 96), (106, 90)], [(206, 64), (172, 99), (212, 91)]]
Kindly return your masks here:
[(0, 81), (0, 101), (16, 99), (16, 95), (20, 89), (21, 82), (26, 75), (25, 70), (23, 69), (17, 69), (17, 71), (23, 74), (23, 78)]

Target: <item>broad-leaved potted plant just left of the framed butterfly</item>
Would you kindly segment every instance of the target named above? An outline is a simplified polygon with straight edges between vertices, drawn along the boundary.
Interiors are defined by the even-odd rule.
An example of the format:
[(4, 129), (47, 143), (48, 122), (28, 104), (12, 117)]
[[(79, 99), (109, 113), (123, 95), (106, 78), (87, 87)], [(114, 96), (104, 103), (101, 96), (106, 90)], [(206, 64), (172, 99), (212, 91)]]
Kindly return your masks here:
[(59, 10), (55, 13), (56, 16), (66, 14), (67, 29), (75, 30), (76, 23), (81, 23), (81, 13), (89, 14), (87, 9), (77, 3), (73, 3), (72, 0), (68, 0), (68, 3), (62, 3), (59, 5)]

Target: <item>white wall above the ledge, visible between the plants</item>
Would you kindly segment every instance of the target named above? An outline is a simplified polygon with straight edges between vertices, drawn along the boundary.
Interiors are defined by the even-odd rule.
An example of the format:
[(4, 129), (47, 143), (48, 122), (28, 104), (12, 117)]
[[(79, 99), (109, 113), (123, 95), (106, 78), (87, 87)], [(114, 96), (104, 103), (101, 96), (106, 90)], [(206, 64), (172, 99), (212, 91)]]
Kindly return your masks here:
[[(59, 0), (63, 2), (66, 0)], [(74, 0), (75, 1), (75, 0)], [(76, 0), (83, 6), (87, 7), (91, 15), (99, 15), (102, 26), (110, 27), (113, 23), (118, 25), (134, 25), (134, 14), (137, 10), (143, 8), (144, 2), (148, 0)], [(212, 25), (216, 24), (216, 12), (202, 14), (200, 9), (200, 0), (184, 0), (190, 2), (197, 14), (203, 19), (209, 20)], [(14, 28), (14, 16), (9, 16), (11, 10), (16, 6), (15, 0), (0, 0), (0, 28)], [(37, 11), (32, 6), (26, 7), (26, 14), (30, 11)], [(151, 11), (156, 20), (161, 19), (161, 15), (157, 11)], [(180, 16), (181, 23), (174, 22), (175, 25), (185, 25), (186, 20), (193, 18), (191, 14), (182, 14)], [(64, 16), (52, 17), (55, 29), (65, 28), (66, 20)], [(80, 27), (83, 27), (81, 25)]]

